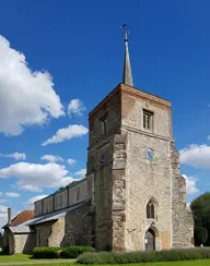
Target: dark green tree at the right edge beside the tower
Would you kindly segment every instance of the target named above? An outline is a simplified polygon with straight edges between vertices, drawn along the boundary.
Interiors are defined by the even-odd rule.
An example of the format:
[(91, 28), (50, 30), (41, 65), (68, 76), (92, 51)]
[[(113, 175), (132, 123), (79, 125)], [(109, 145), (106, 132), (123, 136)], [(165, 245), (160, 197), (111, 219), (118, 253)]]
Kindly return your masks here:
[(210, 192), (207, 192), (190, 204), (194, 215), (194, 237), (196, 245), (210, 245)]

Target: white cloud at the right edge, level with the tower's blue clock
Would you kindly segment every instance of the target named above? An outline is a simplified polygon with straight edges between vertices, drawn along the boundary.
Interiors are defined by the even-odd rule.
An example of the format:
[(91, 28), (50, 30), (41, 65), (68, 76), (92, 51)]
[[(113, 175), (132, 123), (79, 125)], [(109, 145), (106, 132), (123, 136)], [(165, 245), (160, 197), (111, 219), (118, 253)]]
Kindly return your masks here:
[(180, 149), (180, 162), (194, 168), (210, 168), (210, 146), (191, 144)]

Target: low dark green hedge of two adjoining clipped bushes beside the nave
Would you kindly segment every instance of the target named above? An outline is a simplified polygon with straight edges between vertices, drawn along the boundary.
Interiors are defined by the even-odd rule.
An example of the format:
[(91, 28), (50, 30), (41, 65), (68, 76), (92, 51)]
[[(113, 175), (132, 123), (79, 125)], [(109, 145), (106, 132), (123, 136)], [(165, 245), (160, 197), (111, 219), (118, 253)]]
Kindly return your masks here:
[(33, 249), (32, 254), (34, 258), (75, 258), (84, 252), (94, 252), (91, 246), (36, 246)]

